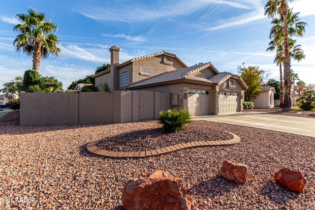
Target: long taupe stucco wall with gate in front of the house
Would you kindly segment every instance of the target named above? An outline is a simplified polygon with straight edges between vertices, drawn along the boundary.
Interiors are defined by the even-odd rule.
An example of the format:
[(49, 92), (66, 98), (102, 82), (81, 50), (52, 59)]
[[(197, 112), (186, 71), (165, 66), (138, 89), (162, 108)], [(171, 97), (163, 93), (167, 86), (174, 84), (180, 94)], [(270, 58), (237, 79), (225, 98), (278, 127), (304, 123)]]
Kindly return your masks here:
[(158, 119), (170, 93), (150, 91), (21, 92), (21, 125), (92, 124)]

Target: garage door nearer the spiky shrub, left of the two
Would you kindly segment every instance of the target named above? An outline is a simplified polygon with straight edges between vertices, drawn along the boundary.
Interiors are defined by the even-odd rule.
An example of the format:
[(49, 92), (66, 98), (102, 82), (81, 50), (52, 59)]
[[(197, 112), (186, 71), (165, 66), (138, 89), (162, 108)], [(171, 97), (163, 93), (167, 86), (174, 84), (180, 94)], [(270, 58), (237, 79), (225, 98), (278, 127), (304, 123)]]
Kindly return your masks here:
[[(198, 93), (200, 94), (198, 94)], [(209, 115), (209, 94), (205, 91), (197, 91), (195, 94), (188, 94), (188, 110), (191, 116)]]

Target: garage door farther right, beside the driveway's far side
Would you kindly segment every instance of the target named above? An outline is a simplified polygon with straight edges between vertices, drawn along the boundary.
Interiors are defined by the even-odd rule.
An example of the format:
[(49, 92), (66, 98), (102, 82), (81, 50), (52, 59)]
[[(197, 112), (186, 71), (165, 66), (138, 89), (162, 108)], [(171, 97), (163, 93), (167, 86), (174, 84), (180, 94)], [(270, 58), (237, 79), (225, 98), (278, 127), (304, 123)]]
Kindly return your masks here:
[(219, 94), (219, 114), (239, 112), (238, 98), (236, 93), (221, 92)]

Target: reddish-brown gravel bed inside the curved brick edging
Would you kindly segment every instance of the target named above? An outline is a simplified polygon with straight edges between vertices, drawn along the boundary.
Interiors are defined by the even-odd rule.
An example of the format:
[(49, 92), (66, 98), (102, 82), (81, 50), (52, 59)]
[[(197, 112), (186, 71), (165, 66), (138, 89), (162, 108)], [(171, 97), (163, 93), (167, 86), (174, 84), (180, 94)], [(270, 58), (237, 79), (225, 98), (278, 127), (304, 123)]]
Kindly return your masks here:
[[(129, 126), (124, 133), (111, 135), (97, 141), (96, 147), (112, 151), (145, 151), (165, 148), (176, 144), (194, 141), (220, 141), (233, 136), (222, 130), (213, 130), (204, 125), (204, 121), (193, 121), (183, 131), (162, 133), (157, 122), (145, 122), (145, 128)], [(137, 125), (135, 123), (135, 125)]]

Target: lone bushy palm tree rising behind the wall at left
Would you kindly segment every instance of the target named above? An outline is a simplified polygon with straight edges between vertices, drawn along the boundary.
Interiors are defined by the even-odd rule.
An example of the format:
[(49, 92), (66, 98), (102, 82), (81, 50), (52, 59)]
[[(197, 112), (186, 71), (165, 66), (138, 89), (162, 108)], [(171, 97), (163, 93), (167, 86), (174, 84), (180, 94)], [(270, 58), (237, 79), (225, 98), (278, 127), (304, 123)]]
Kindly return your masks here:
[(21, 22), (14, 26), (13, 30), (20, 33), (13, 41), (17, 52), (23, 52), (33, 58), (33, 70), (38, 71), (40, 60), (47, 58), (49, 54), (58, 56), (60, 48), (57, 44), (60, 42), (56, 34), (57, 26), (46, 21), (44, 13), (37, 12), (31, 7), (27, 14), (17, 14), (16, 18)]

